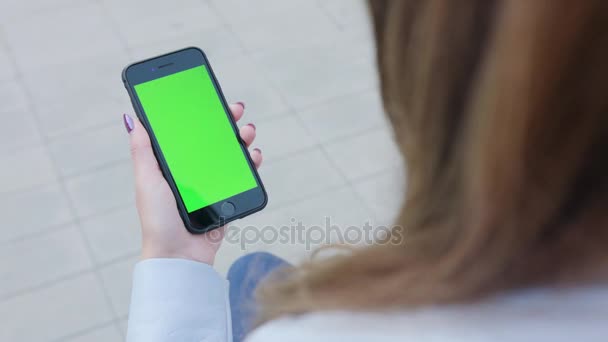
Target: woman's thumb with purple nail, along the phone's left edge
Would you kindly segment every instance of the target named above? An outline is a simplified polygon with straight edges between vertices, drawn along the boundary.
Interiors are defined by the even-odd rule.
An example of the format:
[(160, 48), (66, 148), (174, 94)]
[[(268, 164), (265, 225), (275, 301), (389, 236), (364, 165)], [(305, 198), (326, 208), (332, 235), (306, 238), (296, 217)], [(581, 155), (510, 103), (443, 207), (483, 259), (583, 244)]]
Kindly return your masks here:
[(150, 184), (158, 177), (162, 179), (148, 132), (137, 118), (123, 114), (123, 120), (129, 133), (136, 183)]

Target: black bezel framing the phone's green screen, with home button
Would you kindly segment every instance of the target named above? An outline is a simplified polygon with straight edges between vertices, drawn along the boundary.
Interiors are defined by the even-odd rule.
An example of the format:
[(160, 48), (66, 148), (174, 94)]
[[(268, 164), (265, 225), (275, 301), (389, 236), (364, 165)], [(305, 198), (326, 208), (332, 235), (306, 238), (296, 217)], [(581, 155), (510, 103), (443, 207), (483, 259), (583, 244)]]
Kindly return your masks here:
[[(179, 190), (175, 184), (175, 180), (171, 175), (169, 166), (167, 165), (167, 162), (162, 154), (160, 145), (156, 140), (154, 130), (148, 121), (134, 87), (137, 84), (168, 76), (176, 72), (188, 70), (196, 66), (205, 66), (207, 68), (216, 92), (220, 98), (220, 101), (222, 102), (222, 106), (224, 107), (224, 112), (231, 123), (233, 133), (241, 146), (243, 156), (247, 160), (249, 169), (255, 177), (257, 186), (223, 201), (198, 209), (192, 213), (188, 213)], [(181, 50), (132, 63), (124, 68), (122, 72), (122, 81), (127, 89), (127, 92), (129, 93), (129, 97), (131, 98), (131, 103), (137, 117), (150, 136), (154, 155), (156, 156), (156, 160), (159, 163), (163, 176), (171, 187), (171, 191), (173, 192), (177, 202), (179, 214), (188, 231), (194, 234), (202, 234), (219, 228), (234, 220), (251, 215), (266, 207), (266, 204), (268, 203), (268, 195), (266, 193), (266, 189), (264, 188), (264, 184), (262, 183), (256, 167), (251, 160), (245, 142), (240, 138), (238, 127), (234, 118), (232, 117), (232, 114), (230, 113), (226, 98), (224, 97), (219, 82), (215, 77), (215, 73), (213, 72), (209, 60), (203, 50), (197, 47), (187, 47)], [(233, 214), (226, 214), (222, 212), (222, 205), (224, 205), (226, 202), (230, 202), (234, 205), (235, 210)]]

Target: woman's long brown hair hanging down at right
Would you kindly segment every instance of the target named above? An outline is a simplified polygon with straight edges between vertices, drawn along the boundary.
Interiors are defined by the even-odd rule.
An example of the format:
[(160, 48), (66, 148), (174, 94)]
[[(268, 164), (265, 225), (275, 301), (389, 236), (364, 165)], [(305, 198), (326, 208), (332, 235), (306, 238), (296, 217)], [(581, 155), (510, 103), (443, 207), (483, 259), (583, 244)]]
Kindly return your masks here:
[(608, 1), (370, 9), (406, 238), (267, 282), (263, 319), (607, 280)]

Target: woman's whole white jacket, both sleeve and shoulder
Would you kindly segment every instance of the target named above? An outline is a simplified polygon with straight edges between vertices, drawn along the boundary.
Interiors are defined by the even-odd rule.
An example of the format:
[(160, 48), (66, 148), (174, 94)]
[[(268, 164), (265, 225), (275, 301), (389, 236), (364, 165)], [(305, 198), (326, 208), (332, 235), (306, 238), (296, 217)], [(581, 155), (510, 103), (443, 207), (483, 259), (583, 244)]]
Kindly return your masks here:
[[(231, 341), (228, 283), (180, 259), (137, 264), (128, 342)], [(535, 289), (482, 303), (385, 313), (326, 312), (269, 322), (249, 342), (607, 342), (608, 287)]]

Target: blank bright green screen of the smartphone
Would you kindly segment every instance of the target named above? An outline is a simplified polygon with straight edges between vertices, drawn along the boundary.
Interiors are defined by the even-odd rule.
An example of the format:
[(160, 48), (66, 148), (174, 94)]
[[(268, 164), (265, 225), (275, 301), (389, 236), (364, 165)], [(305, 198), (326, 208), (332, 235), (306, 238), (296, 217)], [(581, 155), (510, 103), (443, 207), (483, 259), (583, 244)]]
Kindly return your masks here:
[(205, 66), (135, 91), (189, 213), (257, 186)]

